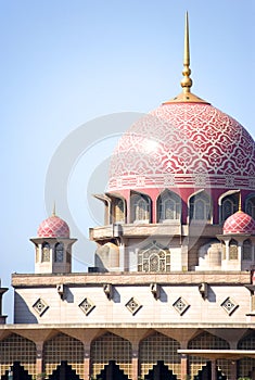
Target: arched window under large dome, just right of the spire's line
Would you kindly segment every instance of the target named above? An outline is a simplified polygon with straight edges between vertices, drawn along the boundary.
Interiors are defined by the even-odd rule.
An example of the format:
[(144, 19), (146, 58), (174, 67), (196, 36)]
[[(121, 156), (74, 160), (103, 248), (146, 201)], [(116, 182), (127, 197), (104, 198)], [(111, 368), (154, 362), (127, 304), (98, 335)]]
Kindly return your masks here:
[(190, 199), (190, 219), (194, 220), (211, 220), (212, 204), (209, 195), (202, 191)]

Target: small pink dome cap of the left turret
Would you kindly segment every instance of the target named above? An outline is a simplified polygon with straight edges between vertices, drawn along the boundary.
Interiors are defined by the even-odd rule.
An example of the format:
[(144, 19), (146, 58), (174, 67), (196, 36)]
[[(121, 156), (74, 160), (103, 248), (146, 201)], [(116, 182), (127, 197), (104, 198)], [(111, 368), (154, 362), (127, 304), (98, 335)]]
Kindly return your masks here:
[(37, 236), (39, 238), (69, 238), (69, 227), (59, 216), (52, 215), (41, 221)]

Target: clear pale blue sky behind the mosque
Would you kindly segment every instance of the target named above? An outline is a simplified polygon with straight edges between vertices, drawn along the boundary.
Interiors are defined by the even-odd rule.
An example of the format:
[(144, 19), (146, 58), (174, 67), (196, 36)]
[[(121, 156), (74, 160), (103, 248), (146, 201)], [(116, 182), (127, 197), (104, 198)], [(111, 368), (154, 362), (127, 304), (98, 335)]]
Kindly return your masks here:
[[(103, 191), (104, 180), (93, 180), (93, 174), (117, 137), (102, 127), (99, 141), (90, 121), (146, 113), (181, 91), (187, 10), (193, 92), (255, 137), (254, 0), (0, 1), (3, 287), (11, 288), (12, 273), (34, 271), (29, 238), (48, 216), (49, 166), (62, 141), (68, 142), (84, 124), (91, 139), (85, 141), (84, 154), (81, 149), (74, 157), (66, 187), (76, 223), (72, 236), (80, 240), (74, 270), (93, 265), (88, 228), (102, 220), (91, 206), (95, 201), (90, 203), (90, 189)], [(60, 172), (64, 168), (63, 163)], [(56, 213), (65, 218), (61, 200), (55, 202)], [(12, 303), (10, 289), (3, 303), (9, 321)]]

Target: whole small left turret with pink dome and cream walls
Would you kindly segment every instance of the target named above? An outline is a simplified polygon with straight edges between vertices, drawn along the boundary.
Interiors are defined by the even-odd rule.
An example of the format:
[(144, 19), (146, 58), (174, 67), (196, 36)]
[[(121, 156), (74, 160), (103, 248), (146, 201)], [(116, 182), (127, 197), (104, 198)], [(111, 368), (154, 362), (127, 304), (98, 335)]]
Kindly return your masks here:
[(30, 239), (36, 248), (36, 274), (69, 274), (72, 273), (72, 245), (77, 239), (69, 238), (68, 225), (55, 215), (43, 220), (37, 231), (37, 237)]

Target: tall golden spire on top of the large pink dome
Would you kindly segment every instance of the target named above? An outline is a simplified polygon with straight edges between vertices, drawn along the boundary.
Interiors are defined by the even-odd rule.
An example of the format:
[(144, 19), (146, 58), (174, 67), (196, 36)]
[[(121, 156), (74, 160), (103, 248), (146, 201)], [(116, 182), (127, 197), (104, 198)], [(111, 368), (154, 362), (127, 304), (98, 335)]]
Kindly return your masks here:
[(169, 104), (169, 103), (206, 103), (205, 100), (196, 97), (194, 93), (190, 91), (190, 88), (192, 86), (192, 79), (190, 78), (191, 69), (190, 69), (190, 40), (189, 40), (189, 16), (188, 12), (186, 12), (186, 28), (184, 28), (184, 55), (183, 55), (183, 69), (182, 75), (183, 78), (181, 79), (181, 87), (182, 92), (175, 97), (174, 99), (170, 99), (163, 104)]

